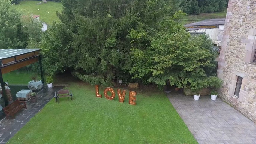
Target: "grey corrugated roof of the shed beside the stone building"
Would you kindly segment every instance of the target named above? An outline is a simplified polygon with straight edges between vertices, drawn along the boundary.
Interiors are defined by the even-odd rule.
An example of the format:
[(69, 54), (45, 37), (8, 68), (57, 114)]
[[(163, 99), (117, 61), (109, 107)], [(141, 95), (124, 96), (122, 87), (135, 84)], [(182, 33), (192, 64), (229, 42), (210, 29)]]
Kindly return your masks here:
[(186, 26), (214, 26), (214, 25), (224, 25), (225, 24), (225, 18), (222, 19), (206, 19), (200, 22), (194, 22), (194, 23), (190, 23), (190, 24), (186, 24), (184, 25)]

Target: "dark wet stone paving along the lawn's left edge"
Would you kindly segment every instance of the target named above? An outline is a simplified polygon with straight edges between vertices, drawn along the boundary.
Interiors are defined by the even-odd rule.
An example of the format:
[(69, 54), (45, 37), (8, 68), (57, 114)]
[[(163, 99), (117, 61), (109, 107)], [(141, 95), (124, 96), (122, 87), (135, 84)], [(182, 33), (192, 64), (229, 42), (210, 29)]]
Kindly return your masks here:
[(44, 88), (36, 97), (36, 102), (27, 101), (27, 109), (20, 110), (15, 119), (2, 119), (0, 121), (0, 144), (6, 143), (16, 134), (29, 120), (35, 116), (53, 97), (54, 92), (63, 87)]

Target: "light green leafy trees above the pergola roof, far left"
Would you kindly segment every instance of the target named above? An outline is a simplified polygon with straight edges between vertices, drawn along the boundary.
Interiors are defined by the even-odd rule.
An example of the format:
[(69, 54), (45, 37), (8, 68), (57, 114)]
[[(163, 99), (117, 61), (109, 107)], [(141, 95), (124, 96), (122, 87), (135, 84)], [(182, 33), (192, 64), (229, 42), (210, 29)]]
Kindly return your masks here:
[(42, 24), (24, 15), (10, 0), (0, 1), (0, 47), (37, 48), (42, 34)]

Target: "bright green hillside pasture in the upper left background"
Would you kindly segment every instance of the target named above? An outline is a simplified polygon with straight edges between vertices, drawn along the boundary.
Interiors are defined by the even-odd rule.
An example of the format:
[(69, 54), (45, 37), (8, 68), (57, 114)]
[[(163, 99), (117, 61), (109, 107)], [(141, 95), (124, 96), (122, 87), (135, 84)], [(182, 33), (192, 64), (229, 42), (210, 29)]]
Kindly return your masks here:
[(47, 3), (42, 2), (41, 5), (36, 5), (39, 2), (42, 1), (21, 1), (16, 5), (16, 7), (19, 10), (24, 11), (24, 13), (40, 15), (39, 19), (43, 22), (46, 22), (48, 25), (52, 25), (53, 21), (59, 22), (59, 17), (56, 15), (56, 11), (62, 11), (62, 4), (60, 2), (48, 1)]

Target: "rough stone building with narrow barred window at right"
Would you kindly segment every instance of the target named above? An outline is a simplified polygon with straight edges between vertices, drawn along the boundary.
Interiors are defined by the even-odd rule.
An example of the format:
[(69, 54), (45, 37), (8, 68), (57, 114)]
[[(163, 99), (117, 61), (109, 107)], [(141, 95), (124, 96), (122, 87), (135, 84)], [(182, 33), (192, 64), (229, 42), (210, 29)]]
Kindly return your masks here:
[(229, 0), (218, 76), (220, 98), (256, 122), (256, 0)]

